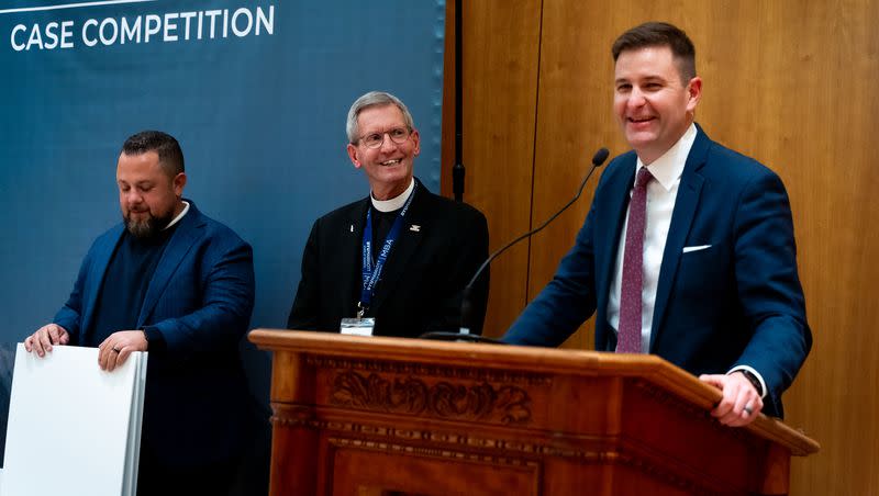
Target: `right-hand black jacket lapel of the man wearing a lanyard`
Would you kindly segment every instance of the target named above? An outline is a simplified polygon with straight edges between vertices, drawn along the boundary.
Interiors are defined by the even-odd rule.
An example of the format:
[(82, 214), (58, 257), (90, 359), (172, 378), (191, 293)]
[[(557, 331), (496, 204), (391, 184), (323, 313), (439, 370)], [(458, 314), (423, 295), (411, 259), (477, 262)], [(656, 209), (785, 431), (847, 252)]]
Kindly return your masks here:
[[(425, 207), (429, 203), (431, 194), (421, 182), (414, 190), (415, 198), (412, 199), (412, 205), (403, 218), (403, 225), (400, 229), (400, 237), (393, 244), (388, 261), (381, 273), (381, 281), (376, 288), (376, 294), (372, 296), (372, 314), (381, 306), (381, 303), (392, 292), (393, 288), (405, 273), (409, 260), (418, 250), (421, 240), (423, 239), (422, 230), (430, 230), (430, 208)], [(413, 230), (413, 226), (418, 226)]]

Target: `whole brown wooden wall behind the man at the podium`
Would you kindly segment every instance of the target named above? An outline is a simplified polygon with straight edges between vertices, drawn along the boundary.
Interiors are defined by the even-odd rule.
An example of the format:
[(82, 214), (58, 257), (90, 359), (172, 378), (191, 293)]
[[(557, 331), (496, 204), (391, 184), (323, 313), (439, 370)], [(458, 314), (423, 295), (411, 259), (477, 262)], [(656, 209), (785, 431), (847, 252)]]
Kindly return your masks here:
[[(476, 180), (472, 168), (468, 171), (468, 198), (489, 216), (492, 246), (524, 230), (527, 200), (521, 195), (532, 173), (531, 224), (536, 225), (574, 194), (594, 148), (608, 146), (612, 155), (627, 149), (611, 113), (610, 45), (616, 35), (648, 20), (672, 22), (690, 34), (704, 80), (698, 122), (713, 139), (776, 170), (793, 207), (814, 346), (785, 396), (787, 422), (817, 439), (822, 451), (794, 460), (791, 494), (879, 494), (879, 305), (874, 291), (879, 281), (879, 228), (874, 226), (879, 172), (872, 143), (879, 129), (879, 97), (872, 88), (879, 76), (879, 0), (466, 3), (464, 23), (471, 27), (465, 65), (476, 67), (465, 72), (465, 112), (467, 122), (482, 123), (469, 127), (465, 146), (478, 155), (468, 157), (515, 158), (480, 161)], [(534, 18), (523, 19), (528, 15)], [(492, 64), (496, 55), (489, 55), (518, 40), (523, 25), (539, 25), (539, 43), (528, 38), (516, 45), (527, 54), (516, 60), (538, 66), (512, 65), (513, 74), (538, 70), (536, 81), (501, 77), (498, 71), (509, 67)], [(499, 102), (510, 106), (508, 101), (515, 111), (501, 111), (502, 120), (496, 119)], [(532, 115), (533, 161), (524, 146)], [(503, 127), (509, 119), (526, 122)], [(552, 278), (585, 218), (593, 184), (571, 212), (533, 240), (525, 269), (519, 266), (525, 263), (522, 250), (494, 264), (490, 334), (509, 326), (525, 291), (532, 298)], [(519, 283), (527, 290), (507, 286)], [(589, 327), (566, 346), (591, 348)]]

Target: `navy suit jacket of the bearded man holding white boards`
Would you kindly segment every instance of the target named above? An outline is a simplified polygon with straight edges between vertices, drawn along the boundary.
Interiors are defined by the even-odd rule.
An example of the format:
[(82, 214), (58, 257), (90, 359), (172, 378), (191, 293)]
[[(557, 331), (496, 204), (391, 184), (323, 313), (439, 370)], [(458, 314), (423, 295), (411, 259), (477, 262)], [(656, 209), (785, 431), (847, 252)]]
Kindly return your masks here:
[[(156, 266), (135, 327), (157, 329), (167, 345), (147, 360), (142, 443), (177, 466), (229, 460), (243, 442), (249, 396), (237, 345), (254, 305), (251, 247), (189, 204)], [(123, 232), (119, 224), (96, 239), (55, 316), (71, 345), (97, 346), (80, 337), (94, 318)]]

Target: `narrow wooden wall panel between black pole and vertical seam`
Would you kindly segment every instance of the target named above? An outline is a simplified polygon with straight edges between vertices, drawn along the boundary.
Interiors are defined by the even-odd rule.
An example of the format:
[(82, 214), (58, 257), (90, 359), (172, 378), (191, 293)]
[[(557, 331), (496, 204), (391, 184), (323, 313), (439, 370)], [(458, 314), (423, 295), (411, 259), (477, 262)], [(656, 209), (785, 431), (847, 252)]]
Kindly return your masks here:
[[(530, 0), (464, 2), (464, 200), (488, 217), (491, 251), (527, 230), (531, 221), (539, 7)], [(449, 1), (449, 20), (453, 9)], [(446, 47), (454, 49), (454, 44)], [(454, 84), (454, 71), (446, 74), (445, 84)], [(444, 121), (454, 123), (449, 93), (454, 95), (445, 93)], [(443, 139), (443, 173), (449, 176), (454, 126)], [(452, 195), (450, 182), (444, 194)], [(502, 335), (525, 305), (527, 249), (521, 244), (491, 264), (487, 336)]]

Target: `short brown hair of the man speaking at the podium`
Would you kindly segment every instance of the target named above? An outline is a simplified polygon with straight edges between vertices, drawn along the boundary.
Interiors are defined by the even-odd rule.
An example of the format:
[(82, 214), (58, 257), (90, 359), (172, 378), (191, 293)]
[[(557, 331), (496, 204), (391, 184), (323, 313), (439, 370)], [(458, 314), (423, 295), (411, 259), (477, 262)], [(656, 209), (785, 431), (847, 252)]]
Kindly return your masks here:
[(626, 50), (667, 46), (678, 65), (683, 84), (696, 77), (696, 47), (682, 30), (666, 22), (645, 22), (632, 27), (613, 42), (613, 61)]

